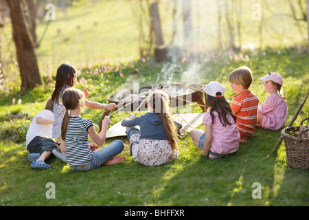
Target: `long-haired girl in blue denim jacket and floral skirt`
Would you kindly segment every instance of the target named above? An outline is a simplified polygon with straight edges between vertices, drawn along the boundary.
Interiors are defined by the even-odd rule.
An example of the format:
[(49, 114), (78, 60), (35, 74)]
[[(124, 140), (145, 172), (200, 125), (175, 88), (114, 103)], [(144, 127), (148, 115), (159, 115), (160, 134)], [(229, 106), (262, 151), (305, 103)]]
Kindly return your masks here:
[[(147, 166), (161, 165), (176, 159), (178, 136), (170, 109), (170, 98), (163, 91), (153, 91), (147, 99), (148, 113), (130, 114), (122, 121), (131, 143), (133, 159)], [(140, 127), (140, 131), (137, 128)]]

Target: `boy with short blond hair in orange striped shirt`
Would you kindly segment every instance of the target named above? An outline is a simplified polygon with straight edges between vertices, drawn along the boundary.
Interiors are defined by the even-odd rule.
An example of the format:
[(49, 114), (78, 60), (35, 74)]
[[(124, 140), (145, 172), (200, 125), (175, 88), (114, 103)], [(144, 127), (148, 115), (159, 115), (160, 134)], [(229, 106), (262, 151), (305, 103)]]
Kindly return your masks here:
[(251, 69), (248, 67), (240, 67), (229, 74), (229, 82), (233, 92), (237, 94), (233, 96), (231, 109), (237, 116), (240, 142), (247, 142), (255, 131), (258, 120), (259, 100), (249, 89), (252, 78)]

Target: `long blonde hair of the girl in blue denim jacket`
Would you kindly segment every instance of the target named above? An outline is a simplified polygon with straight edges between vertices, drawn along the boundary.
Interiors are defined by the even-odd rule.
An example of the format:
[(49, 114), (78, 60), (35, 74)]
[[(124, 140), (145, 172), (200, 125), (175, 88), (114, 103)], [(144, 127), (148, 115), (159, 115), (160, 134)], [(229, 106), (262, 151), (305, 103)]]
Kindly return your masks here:
[(178, 151), (176, 125), (172, 119), (168, 94), (165, 94), (165, 92), (161, 90), (153, 91), (152, 94), (148, 96), (148, 104), (150, 104), (155, 113), (159, 113), (164, 132), (168, 137), (172, 150)]

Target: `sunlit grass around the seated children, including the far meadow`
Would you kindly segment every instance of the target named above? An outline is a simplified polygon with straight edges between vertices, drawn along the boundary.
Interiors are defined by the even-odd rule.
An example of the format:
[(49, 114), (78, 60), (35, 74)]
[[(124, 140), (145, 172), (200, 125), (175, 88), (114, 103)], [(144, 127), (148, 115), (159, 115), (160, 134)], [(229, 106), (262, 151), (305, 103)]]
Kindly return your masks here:
[[(126, 16), (132, 17), (132, 14), (114, 10), (120, 7), (129, 11), (128, 4), (121, 5), (122, 2), (104, 1), (106, 7), (96, 7), (91, 11), (68, 11), (67, 20), (51, 24), (49, 34), (38, 49), (45, 85), (19, 96), (17, 79), (7, 82), (4, 91), (0, 91), (0, 205), (309, 206), (308, 170), (294, 169), (286, 164), (283, 142), (277, 153), (272, 154), (281, 131), (256, 129), (249, 142), (240, 143), (236, 153), (216, 160), (202, 157), (190, 135), (185, 135), (179, 140), (178, 161), (161, 166), (144, 166), (130, 157), (128, 139), (117, 137), (125, 144), (125, 150), (120, 154), (126, 157), (123, 164), (78, 173), (72, 171), (68, 164), (53, 157), (46, 161), (51, 166), (49, 170), (30, 168), (25, 149), (27, 128), (54, 90), (54, 84), (46, 76), (54, 79), (56, 68), (66, 61), (78, 66), (80, 70), (76, 87), (89, 89), (89, 100), (98, 102), (107, 103), (108, 96), (123, 87), (132, 88), (133, 83), (139, 83), (140, 87), (153, 85), (158, 76), (163, 79), (170, 76), (172, 83), (194, 82), (205, 85), (211, 80), (217, 80), (225, 85), (225, 97), (231, 100), (235, 94), (227, 78), (233, 69), (242, 65), (252, 69), (251, 91), (258, 96), (260, 103), (264, 102), (268, 94), (258, 78), (268, 72), (282, 74), (284, 96), (288, 104), (286, 125), (304, 98), (309, 87), (309, 55), (293, 48), (277, 47), (241, 53), (205, 52), (198, 57), (187, 54), (176, 66), (171, 63), (155, 63), (152, 57), (137, 60), (138, 44), (134, 39), (137, 30), (132, 23), (125, 23)], [(93, 13), (93, 10), (97, 13)], [(86, 15), (89, 13), (94, 15), (87, 21)], [(98, 30), (98, 24), (114, 14), (115, 21), (104, 23), (110, 25), (104, 29), (108, 31)], [(83, 20), (88, 25), (76, 28)], [(119, 21), (123, 21), (124, 27), (128, 29), (115, 31), (115, 23), (119, 24)], [(59, 28), (62, 35), (56, 37), (56, 30)], [(38, 25), (38, 32), (43, 32), (43, 29), (44, 25)], [(127, 34), (124, 41), (120, 36), (128, 31), (130, 34)], [(102, 42), (93, 37), (100, 33), (110, 40)], [(82, 47), (84, 41), (91, 41), (93, 44)], [(115, 48), (122, 50), (117, 51)], [(117, 62), (105, 60), (113, 60), (117, 56), (132, 56), (132, 59)], [(168, 73), (170, 75), (166, 76), (166, 72), (161, 72), (163, 67), (172, 67), (172, 72)], [(201, 109), (192, 104), (192, 111), (200, 112)], [(143, 113), (145, 112), (137, 115)], [(86, 109), (83, 117), (98, 123), (101, 115), (98, 110)], [(125, 112), (115, 113), (111, 116), (111, 125), (127, 115)], [(308, 100), (294, 125), (298, 125), (306, 117), (309, 117)], [(203, 129), (203, 126), (199, 128)], [(106, 140), (106, 144), (115, 139)], [(56, 186), (56, 199), (47, 199), (45, 196), (49, 182)], [(260, 183), (261, 199), (252, 197), (254, 183)]]

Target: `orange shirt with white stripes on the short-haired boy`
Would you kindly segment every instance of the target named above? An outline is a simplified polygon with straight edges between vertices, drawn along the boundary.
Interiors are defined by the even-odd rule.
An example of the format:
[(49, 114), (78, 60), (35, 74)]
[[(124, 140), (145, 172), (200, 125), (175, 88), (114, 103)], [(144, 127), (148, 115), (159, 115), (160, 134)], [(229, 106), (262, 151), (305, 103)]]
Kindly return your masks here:
[(249, 138), (255, 131), (258, 120), (259, 99), (251, 91), (242, 91), (233, 96), (231, 109), (236, 113), (240, 137)]

